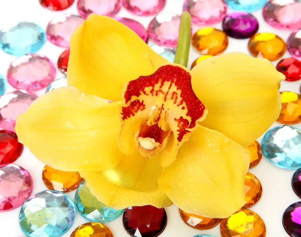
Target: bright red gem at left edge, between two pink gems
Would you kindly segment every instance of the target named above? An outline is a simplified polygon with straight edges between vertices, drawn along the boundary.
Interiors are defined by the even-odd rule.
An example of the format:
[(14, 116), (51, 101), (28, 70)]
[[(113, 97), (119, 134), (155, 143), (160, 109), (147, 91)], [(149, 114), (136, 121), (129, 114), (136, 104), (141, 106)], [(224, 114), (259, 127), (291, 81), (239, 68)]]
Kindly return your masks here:
[(11, 131), (0, 131), (0, 165), (13, 163), (23, 151), (23, 144), (18, 142), (17, 134)]

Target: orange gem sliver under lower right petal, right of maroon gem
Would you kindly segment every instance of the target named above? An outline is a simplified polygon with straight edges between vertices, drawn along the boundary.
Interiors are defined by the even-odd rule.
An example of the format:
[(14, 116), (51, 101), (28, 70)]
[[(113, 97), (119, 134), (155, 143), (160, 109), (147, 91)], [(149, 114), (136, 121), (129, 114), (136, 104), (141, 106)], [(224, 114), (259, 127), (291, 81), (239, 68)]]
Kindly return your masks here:
[(211, 229), (221, 221), (219, 218), (207, 218), (200, 215), (189, 214), (180, 208), (179, 212), (184, 223), (195, 229)]

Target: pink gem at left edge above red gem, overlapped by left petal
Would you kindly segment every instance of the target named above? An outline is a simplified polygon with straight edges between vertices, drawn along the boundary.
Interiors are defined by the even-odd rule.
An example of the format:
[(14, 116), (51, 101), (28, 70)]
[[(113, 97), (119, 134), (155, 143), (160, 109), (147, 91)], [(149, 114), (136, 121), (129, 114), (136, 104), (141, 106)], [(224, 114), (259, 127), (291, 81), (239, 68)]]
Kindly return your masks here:
[(0, 97), (0, 128), (15, 131), (18, 114), (23, 114), (38, 96), (24, 90), (4, 94)]

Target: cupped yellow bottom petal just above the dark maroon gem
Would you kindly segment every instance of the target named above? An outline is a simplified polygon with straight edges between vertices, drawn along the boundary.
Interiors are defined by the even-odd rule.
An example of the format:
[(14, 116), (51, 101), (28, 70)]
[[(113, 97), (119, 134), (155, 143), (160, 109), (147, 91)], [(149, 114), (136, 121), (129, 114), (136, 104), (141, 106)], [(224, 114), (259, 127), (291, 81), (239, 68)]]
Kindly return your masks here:
[(80, 171), (93, 195), (115, 209), (128, 206), (172, 205), (159, 186), (160, 157), (147, 159), (138, 152), (123, 158), (116, 168), (105, 171)]

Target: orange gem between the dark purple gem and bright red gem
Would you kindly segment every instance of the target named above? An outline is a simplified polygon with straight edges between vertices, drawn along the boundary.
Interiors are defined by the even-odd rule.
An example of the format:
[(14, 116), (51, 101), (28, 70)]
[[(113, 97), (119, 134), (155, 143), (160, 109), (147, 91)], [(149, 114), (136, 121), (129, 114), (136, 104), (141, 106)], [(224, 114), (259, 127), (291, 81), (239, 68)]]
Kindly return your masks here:
[(275, 61), (283, 56), (286, 45), (273, 33), (257, 33), (249, 40), (248, 49), (254, 57)]

